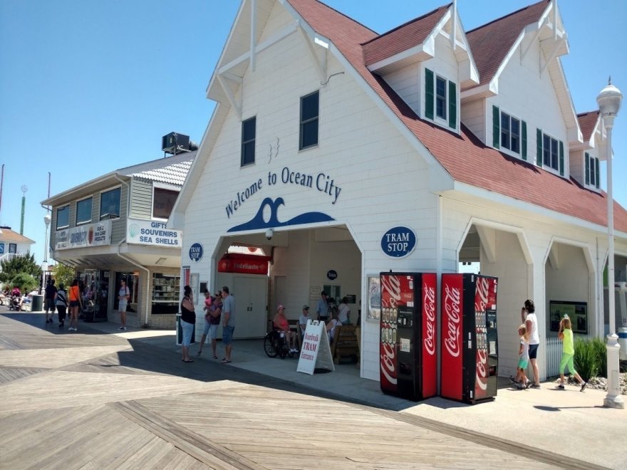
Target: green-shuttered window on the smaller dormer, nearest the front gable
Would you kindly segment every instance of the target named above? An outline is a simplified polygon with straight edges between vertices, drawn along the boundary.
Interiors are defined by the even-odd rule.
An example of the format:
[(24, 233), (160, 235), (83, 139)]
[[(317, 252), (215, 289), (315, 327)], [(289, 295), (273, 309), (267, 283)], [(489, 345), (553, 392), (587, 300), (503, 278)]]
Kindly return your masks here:
[(457, 130), (457, 85), (425, 68), (425, 117)]

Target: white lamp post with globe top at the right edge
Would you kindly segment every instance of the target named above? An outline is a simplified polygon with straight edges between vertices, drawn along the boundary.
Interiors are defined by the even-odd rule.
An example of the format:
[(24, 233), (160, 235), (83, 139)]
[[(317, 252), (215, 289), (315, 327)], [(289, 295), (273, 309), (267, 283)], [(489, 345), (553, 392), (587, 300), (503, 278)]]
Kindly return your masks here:
[(618, 351), (621, 346), (618, 344), (618, 335), (616, 335), (616, 311), (614, 305), (614, 211), (612, 197), (612, 127), (614, 125), (614, 117), (618, 115), (618, 110), (621, 108), (622, 99), (623, 93), (611, 84), (611, 80), (608, 81), (608, 85), (596, 97), (598, 110), (601, 112), (601, 117), (603, 117), (603, 126), (607, 135), (608, 305), (610, 330), (607, 337), (608, 392), (605, 399), (603, 399), (603, 406), (608, 408), (625, 407), (618, 384), (620, 375)]

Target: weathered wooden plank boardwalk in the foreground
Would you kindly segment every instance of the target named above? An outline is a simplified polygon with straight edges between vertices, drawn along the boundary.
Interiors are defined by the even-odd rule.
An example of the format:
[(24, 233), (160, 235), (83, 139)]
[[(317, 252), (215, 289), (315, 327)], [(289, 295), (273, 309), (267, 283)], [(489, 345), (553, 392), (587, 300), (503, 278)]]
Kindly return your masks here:
[(594, 468), (36, 315), (0, 315), (1, 469)]

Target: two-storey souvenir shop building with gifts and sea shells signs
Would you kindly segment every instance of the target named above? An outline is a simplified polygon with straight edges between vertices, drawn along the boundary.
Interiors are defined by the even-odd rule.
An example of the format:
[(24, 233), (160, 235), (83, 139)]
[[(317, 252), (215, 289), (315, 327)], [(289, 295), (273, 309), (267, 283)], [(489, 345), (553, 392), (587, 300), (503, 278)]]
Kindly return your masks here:
[(51, 257), (76, 270), (95, 320), (120, 321), (111, 313), (125, 280), (128, 325), (174, 327), (182, 234), (165, 223), (194, 156), (120, 168), (42, 202), (52, 207)]

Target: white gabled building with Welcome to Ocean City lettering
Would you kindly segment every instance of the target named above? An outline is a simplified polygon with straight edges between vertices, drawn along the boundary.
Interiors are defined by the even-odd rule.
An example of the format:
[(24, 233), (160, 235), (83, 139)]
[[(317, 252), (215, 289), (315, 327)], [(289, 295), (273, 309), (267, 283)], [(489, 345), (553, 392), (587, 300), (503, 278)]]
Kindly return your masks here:
[[(568, 52), (554, 0), (473, 31), (443, 6), (382, 35), (314, 0), (242, 1), (169, 222), (184, 233), (185, 272), (212, 291), (230, 286), (236, 338), (263, 335), (278, 303), (298, 318), (323, 288), (354, 295), (361, 375), (378, 380), (368, 277), (478, 262), (499, 278), (499, 373), (514, 371), (532, 298), (546, 376), (551, 302), (579, 305), (576, 332), (602, 335), (608, 323), (606, 150), (598, 113), (574, 110)], [(624, 281), (627, 211), (614, 207)], [(398, 226), (415, 249), (383, 246)], [(268, 277), (217, 272), (238, 245), (271, 257)]]

